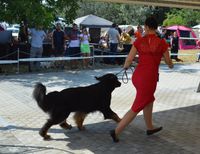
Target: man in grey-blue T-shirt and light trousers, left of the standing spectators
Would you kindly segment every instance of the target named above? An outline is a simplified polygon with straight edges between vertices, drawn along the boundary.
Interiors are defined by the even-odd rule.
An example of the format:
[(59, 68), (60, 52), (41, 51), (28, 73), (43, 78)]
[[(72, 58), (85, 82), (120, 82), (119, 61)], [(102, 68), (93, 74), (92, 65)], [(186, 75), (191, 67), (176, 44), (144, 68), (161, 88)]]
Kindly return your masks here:
[[(30, 58), (41, 58), (43, 53), (43, 40), (46, 38), (46, 33), (42, 30), (41, 25), (37, 25), (36, 28), (32, 28), (29, 30), (29, 35), (31, 35)], [(30, 72), (39, 69), (40, 62), (30, 62)]]

